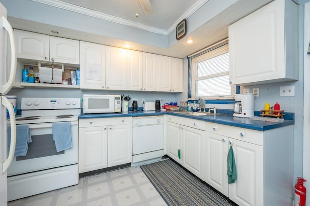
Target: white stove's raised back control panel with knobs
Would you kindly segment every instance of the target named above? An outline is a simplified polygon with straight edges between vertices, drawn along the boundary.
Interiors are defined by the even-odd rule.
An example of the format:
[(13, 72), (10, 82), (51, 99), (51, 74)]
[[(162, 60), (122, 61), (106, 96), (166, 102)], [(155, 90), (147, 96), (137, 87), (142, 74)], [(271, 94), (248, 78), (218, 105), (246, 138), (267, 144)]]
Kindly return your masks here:
[(80, 109), (79, 98), (21, 98), (20, 108), (27, 109)]

